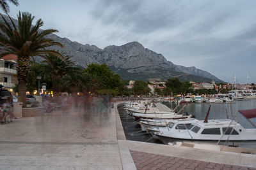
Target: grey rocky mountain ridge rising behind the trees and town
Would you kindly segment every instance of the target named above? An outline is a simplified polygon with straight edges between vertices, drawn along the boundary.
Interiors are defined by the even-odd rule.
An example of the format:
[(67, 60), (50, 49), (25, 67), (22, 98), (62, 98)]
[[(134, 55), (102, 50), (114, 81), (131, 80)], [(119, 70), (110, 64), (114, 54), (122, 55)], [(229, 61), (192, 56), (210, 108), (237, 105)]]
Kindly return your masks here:
[[(3, 21), (0, 19), (0, 22)], [(122, 46), (111, 45), (100, 49), (95, 45), (82, 45), (76, 41), (61, 38), (56, 34), (51, 34), (49, 37), (62, 43), (63, 48), (58, 46), (53, 48), (74, 56), (72, 59), (76, 61), (77, 65), (86, 67), (94, 62), (106, 63), (124, 80), (148, 80), (148, 78), (167, 80), (178, 77), (182, 81), (221, 81), (202, 69), (175, 65), (166, 60), (163, 55), (145, 48), (138, 42), (131, 42)]]

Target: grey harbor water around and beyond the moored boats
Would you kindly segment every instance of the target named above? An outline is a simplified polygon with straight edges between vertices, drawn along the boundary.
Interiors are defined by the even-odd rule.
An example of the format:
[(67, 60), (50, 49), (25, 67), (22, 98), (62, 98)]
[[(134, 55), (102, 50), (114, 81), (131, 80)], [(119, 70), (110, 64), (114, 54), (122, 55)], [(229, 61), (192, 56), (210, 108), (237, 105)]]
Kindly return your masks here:
[[(163, 103), (169, 108), (175, 108), (175, 103)], [(195, 116), (198, 120), (204, 120), (205, 115), (211, 104), (209, 120), (211, 119), (234, 119), (239, 122), (244, 128), (254, 128), (246, 118), (239, 113), (238, 110), (248, 110), (256, 108), (256, 100), (248, 99), (243, 101), (234, 101), (232, 103), (189, 103), (184, 109), (184, 112)], [(127, 140), (144, 141), (150, 143), (162, 143), (161, 141), (152, 138), (147, 132), (141, 131), (140, 125), (130, 115), (126, 113), (123, 106), (118, 107), (118, 112), (124, 127), (125, 137)], [(256, 118), (250, 119), (256, 125)], [(256, 146), (249, 146), (255, 148)]]

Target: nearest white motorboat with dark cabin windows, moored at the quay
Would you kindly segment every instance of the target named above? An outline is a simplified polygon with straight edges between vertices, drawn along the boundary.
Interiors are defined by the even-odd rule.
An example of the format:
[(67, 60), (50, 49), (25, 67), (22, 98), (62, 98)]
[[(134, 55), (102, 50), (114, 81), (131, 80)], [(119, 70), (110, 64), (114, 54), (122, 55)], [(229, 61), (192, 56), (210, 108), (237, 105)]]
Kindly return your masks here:
[(174, 120), (168, 124), (168, 128), (159, 129), (155, 134), (165, 144), (173, 139), (215, 143), (256, 142), (256, 129), (244, 129), (237, 122), (228, 119), (209, 120), (207, 123), (203, 120)]

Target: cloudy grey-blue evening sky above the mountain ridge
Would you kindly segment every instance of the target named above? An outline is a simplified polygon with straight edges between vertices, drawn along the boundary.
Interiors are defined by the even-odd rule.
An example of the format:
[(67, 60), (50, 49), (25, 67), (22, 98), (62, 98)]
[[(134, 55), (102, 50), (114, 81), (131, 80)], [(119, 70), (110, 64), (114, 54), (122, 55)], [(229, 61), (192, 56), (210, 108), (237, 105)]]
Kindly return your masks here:
[(26, 0), (10, 16), (28, 11), (42, 29), (104, 48), (140, 42), (174, 64), (195, 66), (223, 81), (256, 82), (254, 0)]

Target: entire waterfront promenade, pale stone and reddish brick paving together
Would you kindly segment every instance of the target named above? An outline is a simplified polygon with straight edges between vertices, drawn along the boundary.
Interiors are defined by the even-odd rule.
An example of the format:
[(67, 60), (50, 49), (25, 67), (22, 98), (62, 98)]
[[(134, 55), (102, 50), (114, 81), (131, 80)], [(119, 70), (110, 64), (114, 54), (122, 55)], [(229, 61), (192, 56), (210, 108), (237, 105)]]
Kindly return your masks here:
[(255, 155), (126, 141), (117, 109), (86, 107), (0, 126), (0, 169), (253, 169)]

